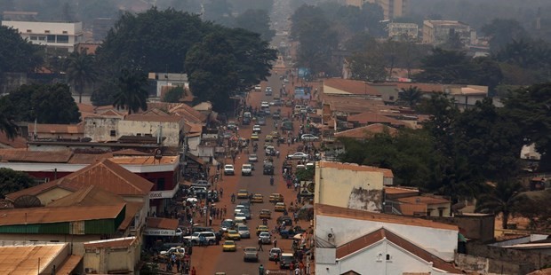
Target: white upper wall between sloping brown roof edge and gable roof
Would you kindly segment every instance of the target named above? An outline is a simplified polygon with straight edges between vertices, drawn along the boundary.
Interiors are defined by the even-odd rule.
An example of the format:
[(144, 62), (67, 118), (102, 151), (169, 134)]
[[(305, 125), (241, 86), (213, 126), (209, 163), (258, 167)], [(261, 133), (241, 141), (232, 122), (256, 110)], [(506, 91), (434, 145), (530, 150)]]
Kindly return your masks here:
[(315, 237), (327, 240), (327, 234), (332, 233), (337, 247), (381, 227), (395, 232), (403, 239), (410, 240), (444, 261), (453, 261), (453, 253), (457, 249), (458, 231), (334, 216), (317, 215), (315, 217)]

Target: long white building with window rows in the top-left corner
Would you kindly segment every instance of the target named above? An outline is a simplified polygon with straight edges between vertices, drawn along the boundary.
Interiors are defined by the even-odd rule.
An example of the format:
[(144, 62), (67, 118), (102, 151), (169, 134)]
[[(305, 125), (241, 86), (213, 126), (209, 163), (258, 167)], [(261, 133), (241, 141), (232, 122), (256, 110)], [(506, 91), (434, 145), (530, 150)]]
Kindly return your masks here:
[(2, 26), (18, 29), (21, 37), (31, 43), (68, 52), (84, 39), (82, 22), (2, 21)]

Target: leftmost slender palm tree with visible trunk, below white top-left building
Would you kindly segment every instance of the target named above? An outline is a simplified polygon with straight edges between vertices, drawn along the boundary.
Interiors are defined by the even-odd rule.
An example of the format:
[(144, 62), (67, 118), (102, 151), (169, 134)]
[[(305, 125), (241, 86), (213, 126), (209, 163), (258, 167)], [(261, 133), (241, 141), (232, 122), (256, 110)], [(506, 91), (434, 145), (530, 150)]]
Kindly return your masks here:
[(98, 79), (98, 72), (94, 67), (94, 59), (86, 51), (75, 51), (67, 59), (67, 78), (75, 85), (78, 92), (78, 103), (83, 102), (84, 84), (94, 83)]

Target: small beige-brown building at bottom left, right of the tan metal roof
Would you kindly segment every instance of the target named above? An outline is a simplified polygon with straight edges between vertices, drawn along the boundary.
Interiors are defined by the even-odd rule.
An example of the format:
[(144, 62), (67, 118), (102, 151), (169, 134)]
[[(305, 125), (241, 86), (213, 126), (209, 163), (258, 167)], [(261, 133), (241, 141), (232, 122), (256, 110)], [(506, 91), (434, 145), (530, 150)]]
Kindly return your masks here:
[(84, 271), (88, 274), (132, 274), (140, 263), (136, 237), (84, 243)]

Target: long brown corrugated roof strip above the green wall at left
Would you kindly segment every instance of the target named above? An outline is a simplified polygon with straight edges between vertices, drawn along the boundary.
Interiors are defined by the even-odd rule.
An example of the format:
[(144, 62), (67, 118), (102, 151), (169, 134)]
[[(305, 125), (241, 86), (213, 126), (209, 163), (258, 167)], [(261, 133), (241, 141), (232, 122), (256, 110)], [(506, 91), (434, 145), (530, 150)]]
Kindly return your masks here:
[(123, 209), (124, 203), (106, 206), (0, 209), (0, 226), (113, 219), (119, 216)]

